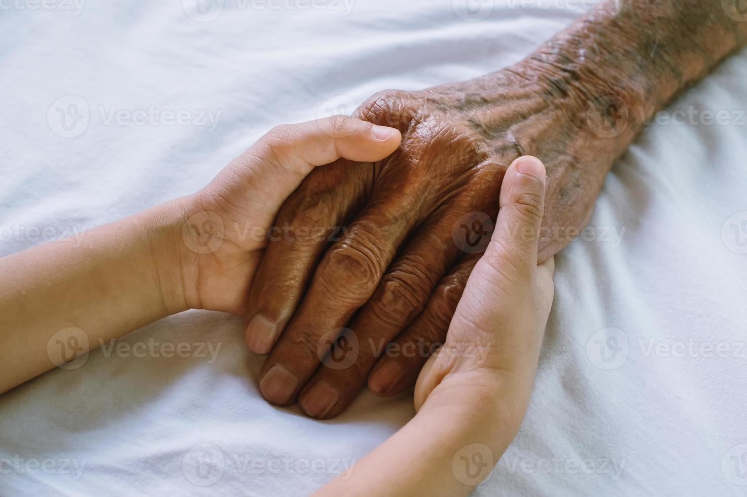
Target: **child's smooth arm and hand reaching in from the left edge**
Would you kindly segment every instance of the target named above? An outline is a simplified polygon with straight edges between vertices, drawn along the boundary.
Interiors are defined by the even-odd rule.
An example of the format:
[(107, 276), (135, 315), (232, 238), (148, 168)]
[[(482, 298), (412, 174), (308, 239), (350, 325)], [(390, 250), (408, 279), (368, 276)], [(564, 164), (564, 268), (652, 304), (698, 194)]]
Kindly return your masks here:
[(176, 312), (241, 315), (283, 200), (314, 167), (377, 161), (400, 140), (350, 117), (279, 126), (190, 197), (84, 232), (79, 246), (1, 258), (0, 392)]

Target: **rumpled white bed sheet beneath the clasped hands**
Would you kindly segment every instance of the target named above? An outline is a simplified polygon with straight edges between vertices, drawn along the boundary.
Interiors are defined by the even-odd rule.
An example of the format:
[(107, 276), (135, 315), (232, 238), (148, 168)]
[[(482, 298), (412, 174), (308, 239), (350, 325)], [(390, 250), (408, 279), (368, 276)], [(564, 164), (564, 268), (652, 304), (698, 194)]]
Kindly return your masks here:
[[(0, 2), (3, 254), (196, 191), (276, 124), (518, 61), (588, 3), (200, 1)], [(746, 492), (744, 81), (743, 52), (669, 108), (736, 123), (654, 123), (610, 173), (593, 240), (557, 258), (527, 418), (477, 495)], [(128, 122), (149, 108), (192, 124)], [(329, 422), (271, 407), (241, 335), (187, 312), (122, 342), (192, 356), (99, 350), (2, 395), (0, 494), (304, 495), (413, 414), (368, 392)]]

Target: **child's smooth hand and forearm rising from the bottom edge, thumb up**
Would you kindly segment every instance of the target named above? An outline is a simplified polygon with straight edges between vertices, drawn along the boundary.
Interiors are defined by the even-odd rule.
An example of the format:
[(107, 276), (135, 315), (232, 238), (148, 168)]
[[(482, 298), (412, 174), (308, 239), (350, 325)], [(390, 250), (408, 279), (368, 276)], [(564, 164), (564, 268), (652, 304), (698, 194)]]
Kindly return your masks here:
[(458, 496), (490, 474), (524, 418), (553, 300), (553, 259), (537, 266), (544, 197), (545, 167), (518, 158), (444, 348), (418, 377), (418, 414), (317, 495)]

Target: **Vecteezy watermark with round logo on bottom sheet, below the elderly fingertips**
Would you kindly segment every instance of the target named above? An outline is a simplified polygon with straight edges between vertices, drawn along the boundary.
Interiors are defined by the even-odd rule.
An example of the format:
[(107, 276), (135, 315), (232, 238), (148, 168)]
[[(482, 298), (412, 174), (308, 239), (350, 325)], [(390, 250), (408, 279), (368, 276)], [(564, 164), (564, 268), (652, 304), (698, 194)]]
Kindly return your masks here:
[(236, 475), (342, 475), (347, 480), (357, 459), (343, 457), (294, 457), (268, 454), (256, 457), (247, 453), (223, 451), (214, 443), (201, 443), (182, 457), (182, 473), (190, 483), (207, 487), (216, 484), (225, 472)]

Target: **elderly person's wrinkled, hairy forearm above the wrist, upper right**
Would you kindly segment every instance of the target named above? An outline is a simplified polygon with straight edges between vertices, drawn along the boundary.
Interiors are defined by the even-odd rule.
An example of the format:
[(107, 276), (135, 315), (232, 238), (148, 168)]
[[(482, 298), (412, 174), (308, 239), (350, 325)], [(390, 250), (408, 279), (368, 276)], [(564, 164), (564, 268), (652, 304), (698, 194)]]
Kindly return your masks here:
[(734, 1), (603, 0), (512, 70), (545, 80), (550, 98), (577, 99), (582, 117), (592, 105), (609, 113), (617, 130), (601, 138), (619, 155), (656, 111), (747, 42), (747, 16), (736, 20), (730, 7)]

